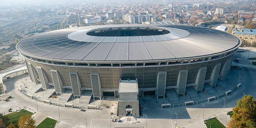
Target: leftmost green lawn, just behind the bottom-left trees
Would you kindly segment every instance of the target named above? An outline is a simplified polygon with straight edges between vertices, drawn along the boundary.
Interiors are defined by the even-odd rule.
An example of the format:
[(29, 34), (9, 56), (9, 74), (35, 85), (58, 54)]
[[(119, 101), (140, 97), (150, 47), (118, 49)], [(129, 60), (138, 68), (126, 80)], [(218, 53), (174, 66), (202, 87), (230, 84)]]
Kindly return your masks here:
[(20, 117), (27, 114), (32, 115), (33, 113), (25, 109), (21, 109), (19, 112), (13, 112), (13, 113), (7, 114), (6, 116), (10, 118), (8, 123), (18, 123)]

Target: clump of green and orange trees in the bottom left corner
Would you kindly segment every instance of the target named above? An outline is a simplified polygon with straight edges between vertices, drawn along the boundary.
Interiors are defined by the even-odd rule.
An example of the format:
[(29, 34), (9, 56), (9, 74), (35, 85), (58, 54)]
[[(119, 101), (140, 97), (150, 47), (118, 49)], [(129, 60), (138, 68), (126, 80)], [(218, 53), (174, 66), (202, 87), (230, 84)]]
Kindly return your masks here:
[(0, 128), (35, 128), (35, 119), (31, 115), (23, 115), (18, 123), (9, 123), (10, 118), (0, 114)]

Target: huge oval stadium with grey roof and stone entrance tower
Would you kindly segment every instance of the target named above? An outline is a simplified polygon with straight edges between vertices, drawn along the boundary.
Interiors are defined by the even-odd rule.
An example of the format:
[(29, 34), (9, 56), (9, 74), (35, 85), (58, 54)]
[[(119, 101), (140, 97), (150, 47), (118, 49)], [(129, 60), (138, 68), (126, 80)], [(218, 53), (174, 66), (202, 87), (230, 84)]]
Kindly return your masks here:
[(115, 96), (119, 116), (138, 117), (139, 96), (167, 96), (172, 103), (191, 92), (214, 95), (240, 45), (234, 35), (203, 27), (120, 24), (44, 32), (16, 48), (46, 94), (87, 104), (88, 96)]

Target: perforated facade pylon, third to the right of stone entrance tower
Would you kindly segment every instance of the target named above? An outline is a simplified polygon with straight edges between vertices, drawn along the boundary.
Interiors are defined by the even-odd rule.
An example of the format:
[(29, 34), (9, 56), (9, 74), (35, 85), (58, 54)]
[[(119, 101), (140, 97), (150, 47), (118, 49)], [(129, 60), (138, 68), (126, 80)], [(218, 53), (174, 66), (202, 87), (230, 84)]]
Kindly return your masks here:
[(196, 91), (203, 90), (206, 69), (207, 69), (206, 67), (199, 69), (199, 72), (198, 72), (197, 78), (196, 78), (196, 86), (195, 86)]

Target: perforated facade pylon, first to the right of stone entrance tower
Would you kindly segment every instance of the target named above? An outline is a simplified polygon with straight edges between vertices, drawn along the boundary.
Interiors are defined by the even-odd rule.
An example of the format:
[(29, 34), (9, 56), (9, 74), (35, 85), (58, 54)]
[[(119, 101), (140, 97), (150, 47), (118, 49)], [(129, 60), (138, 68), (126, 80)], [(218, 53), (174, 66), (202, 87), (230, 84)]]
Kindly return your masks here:
[(158, 73), (157, 76), (157, 96), (165, 96), (166, 72)]

